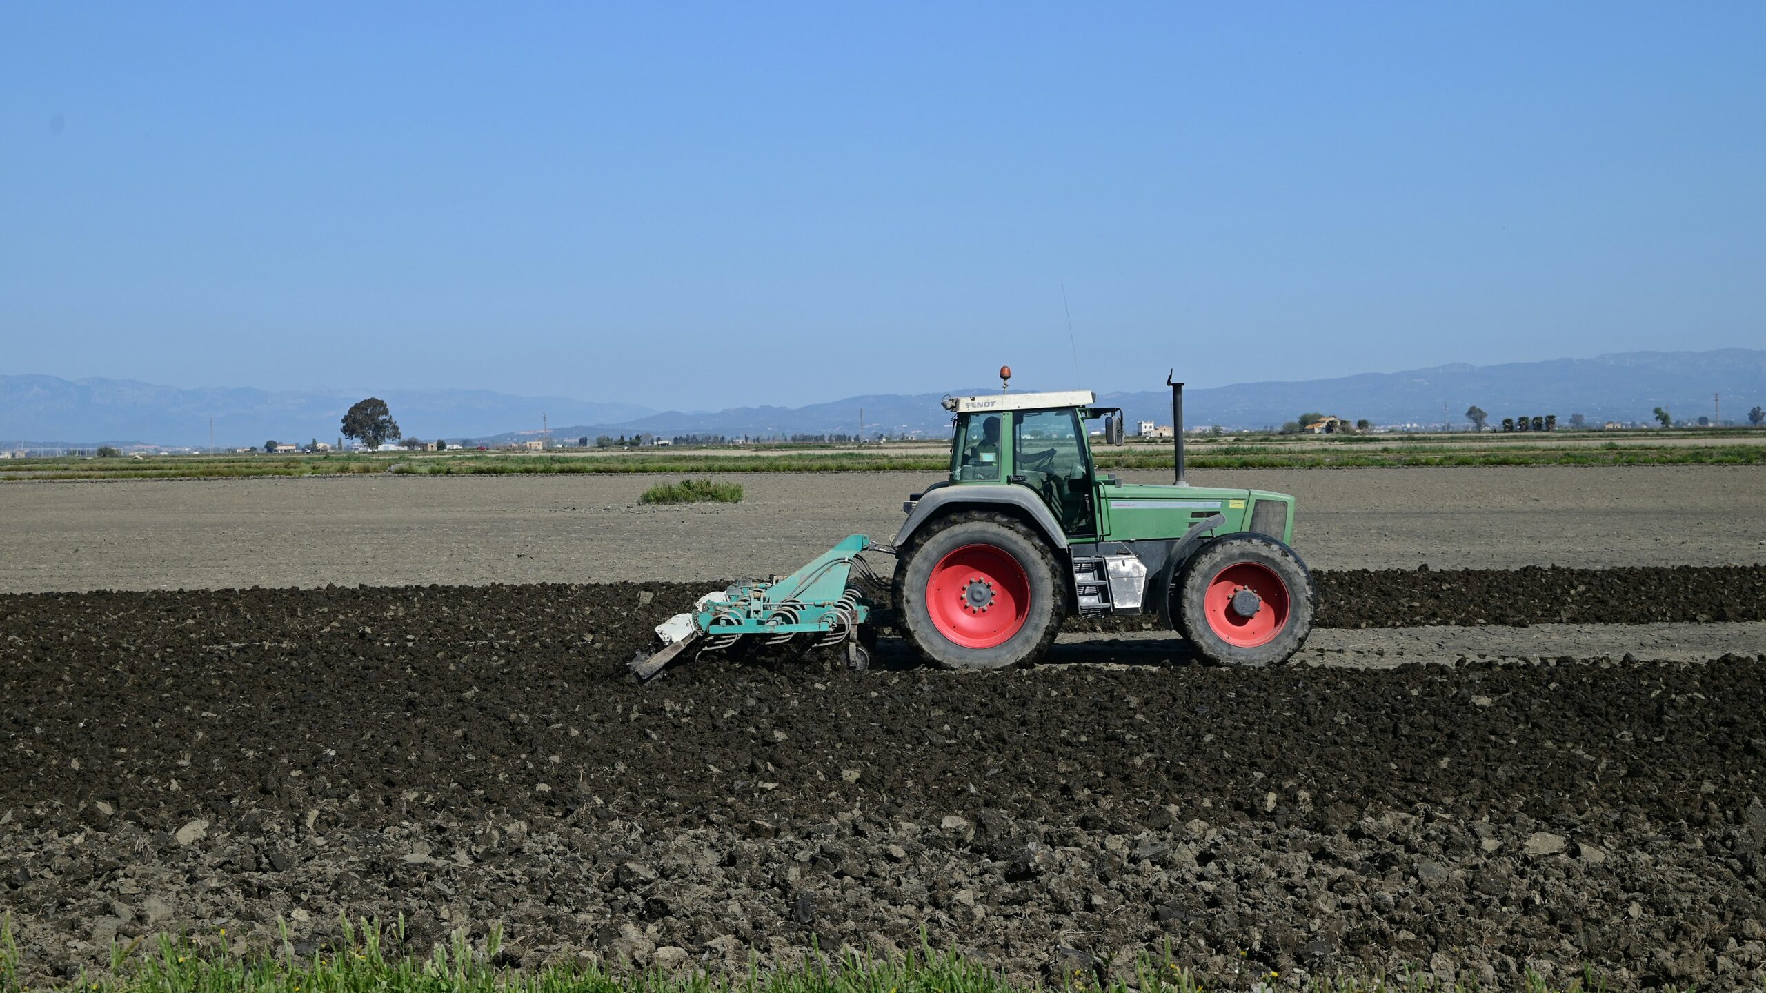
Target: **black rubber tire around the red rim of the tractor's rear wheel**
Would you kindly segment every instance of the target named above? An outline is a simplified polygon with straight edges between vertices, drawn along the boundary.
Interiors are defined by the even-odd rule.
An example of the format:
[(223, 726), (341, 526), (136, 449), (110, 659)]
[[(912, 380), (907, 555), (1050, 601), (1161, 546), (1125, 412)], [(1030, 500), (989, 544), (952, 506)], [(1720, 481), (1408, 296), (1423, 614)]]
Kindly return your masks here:
[[(968, 546), (987, 546), (1008, 555), (1028, 583), (1024, 622), (998, 645), (959, 645), (940, 631), (932, 604), (927, 603), (932, 571), (950, 553)], [(908, 641), (925, 661), (952, 670), (1001, 670), (1033, 663), (1054, 643), (1067, 613), (1067, 587), (1042, 535), (1007, 514), (989, 511), (957, 511), (922, 527), (897, 553), (894, 592)]]

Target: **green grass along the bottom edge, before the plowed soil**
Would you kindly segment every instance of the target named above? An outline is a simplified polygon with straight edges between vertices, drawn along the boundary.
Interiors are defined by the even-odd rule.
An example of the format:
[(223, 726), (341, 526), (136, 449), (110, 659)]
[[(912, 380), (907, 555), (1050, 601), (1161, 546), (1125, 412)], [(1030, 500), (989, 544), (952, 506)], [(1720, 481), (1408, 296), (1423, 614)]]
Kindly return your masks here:
[[(403, 917), (385, 938), (403, 942)], [(102, 974), (81, 972), (65, 984), (49, 986), (67, 993), (1038, 993), (1067, 989), (1081, 993), (1204, 993), (1206, 989), (1249, 989), (1277, 993), (1595, 993), (1605, 982), (1581, 975), (1568, 984), (1549, 984), (1526, 975), (1510, 984), (1475, 988), (1443, 984), (1427, 972), (1400, 979), (1296, 979), (1247, 959), (1238, 975), (1222, 984), (1194, 979), (1183, 966), (1166, 958), (1143, 958), (1132, 975), (1100, 979), (1090, 968), (1051, 982), (1023, 982), (980, 965), (955, 951), (934, 952), (925, 944), (901, 958), (872, 959), (858, 956), (814, 956), (798, 968), (761, 970), (749, 966), (736, 975), (706, 974), (691, 965), (675, 972), (616, 972), (599, 965), (549, 965), (525, 972), (502, 954), (502, 928), (493, 926), (484, 947), (456, 931), (449, 945), (436, 945), (427, 958), (381, 947), (380, 926), (343, 921), (341, 947), (314, 954), (295, 952), (286, 926), (275, 952), (238, 954), (226, 945), (226, 931), (157, 942), (111, 945), (109, 968)], [(0, 993), (25, 993), (18, 975), (18, 945), (11, 915), (0, 919)], [(1676, 993), (1669, 988), (1665, 993)]]

